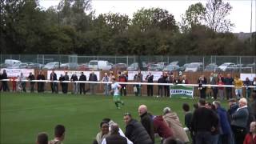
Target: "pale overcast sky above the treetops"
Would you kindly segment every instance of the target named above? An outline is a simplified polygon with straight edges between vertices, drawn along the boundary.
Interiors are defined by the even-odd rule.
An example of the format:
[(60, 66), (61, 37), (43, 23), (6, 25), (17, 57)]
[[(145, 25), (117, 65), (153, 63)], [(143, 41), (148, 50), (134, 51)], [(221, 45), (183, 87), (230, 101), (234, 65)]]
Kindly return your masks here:
[[(59, 0), (40, 0), (40, 6), (48, 8), (50, 6), (57, 6)], [(142, 7), (159, 7), (168, 10), (171, 14), (174, 14), (174, 18), (177, 22), (181, 21), (181, 15), (185, 13), (187, 8), (196, 2), (202, 2), (206, 4), (206, 0), (92, 0), (92, 9), (95, 10), (96, 15), (105, 14), (108, 12), (127, 14), (132, 18), (134, 12)], [(230, 12), (231, 22), (234, 23), (234, 30), (232, 32), (250, 32), (250, 0), (230, 0), (233, 7)], [(255, 0), (253, 0), (253, 31), (256, 31), (255, 18)]]

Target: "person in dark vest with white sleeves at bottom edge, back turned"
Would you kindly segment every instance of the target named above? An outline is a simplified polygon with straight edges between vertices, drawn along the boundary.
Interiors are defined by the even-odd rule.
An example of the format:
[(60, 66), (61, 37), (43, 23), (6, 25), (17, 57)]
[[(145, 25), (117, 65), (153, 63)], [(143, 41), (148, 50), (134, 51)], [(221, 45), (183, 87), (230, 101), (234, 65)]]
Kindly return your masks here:
[(114, 123), (110, 126), (110, 136), (103, 139), (102, 144), (132, 144), (129, 139), (119, 134), (119, 126)]

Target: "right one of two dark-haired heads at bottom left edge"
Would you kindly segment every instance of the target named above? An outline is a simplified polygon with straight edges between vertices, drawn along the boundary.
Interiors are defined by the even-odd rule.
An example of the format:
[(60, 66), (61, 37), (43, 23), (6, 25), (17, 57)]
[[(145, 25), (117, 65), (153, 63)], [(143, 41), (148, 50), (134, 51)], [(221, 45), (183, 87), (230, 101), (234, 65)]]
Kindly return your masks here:
[(65, 126), (57, 125), (54, 130), (54, 139), (49, 142), (49, 144), (62, 144), (65, 138)]

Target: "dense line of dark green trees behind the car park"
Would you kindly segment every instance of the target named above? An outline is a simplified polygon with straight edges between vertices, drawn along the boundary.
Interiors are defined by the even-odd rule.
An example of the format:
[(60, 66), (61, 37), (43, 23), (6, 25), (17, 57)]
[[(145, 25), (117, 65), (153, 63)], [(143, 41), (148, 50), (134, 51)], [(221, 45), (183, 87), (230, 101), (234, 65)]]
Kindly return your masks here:
[(2, 54), (252, 55), (256, 33), (230, 33), (232, 6), (208, 0), (189, 6), (177, 22), (161, 8), (95, 15), (91, 0), (62, 0), (43, 9), (38, 0), (2, 0)]

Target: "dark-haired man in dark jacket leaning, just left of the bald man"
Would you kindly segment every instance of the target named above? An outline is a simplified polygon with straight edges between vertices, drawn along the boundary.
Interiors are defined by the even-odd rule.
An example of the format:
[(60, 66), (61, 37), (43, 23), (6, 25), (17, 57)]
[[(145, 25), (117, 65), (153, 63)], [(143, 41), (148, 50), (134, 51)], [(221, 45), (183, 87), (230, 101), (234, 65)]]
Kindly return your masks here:
[(134, 142), (134, 144), (153, 144), (144, 126), (137, 120), (131, 118), (129, 113), (124, 115), (124, 121), (126, 122), (125, 135), (131, 142)]

